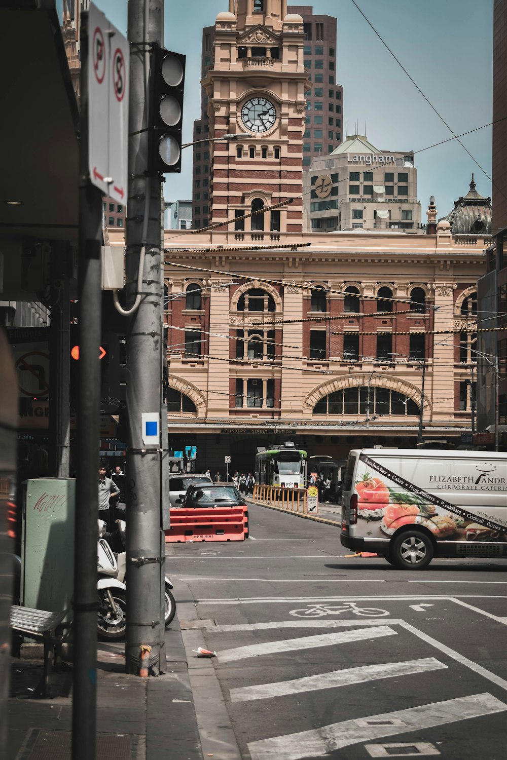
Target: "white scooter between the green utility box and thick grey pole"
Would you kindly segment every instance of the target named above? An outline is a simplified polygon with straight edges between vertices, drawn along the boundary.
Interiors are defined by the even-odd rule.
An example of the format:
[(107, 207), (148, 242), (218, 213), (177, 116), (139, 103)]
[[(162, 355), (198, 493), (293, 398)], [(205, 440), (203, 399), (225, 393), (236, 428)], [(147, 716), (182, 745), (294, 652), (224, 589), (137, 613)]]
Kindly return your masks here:
[(127, 591), (125, 584), (119, 581), (118, 564), (109, 544), (103, 535), (106, 523), (99, 520), (99, 541), (97, 543), (97, 592), (99, 610), (97, 628), (100, 638), (119, 641), (127, 630)]

